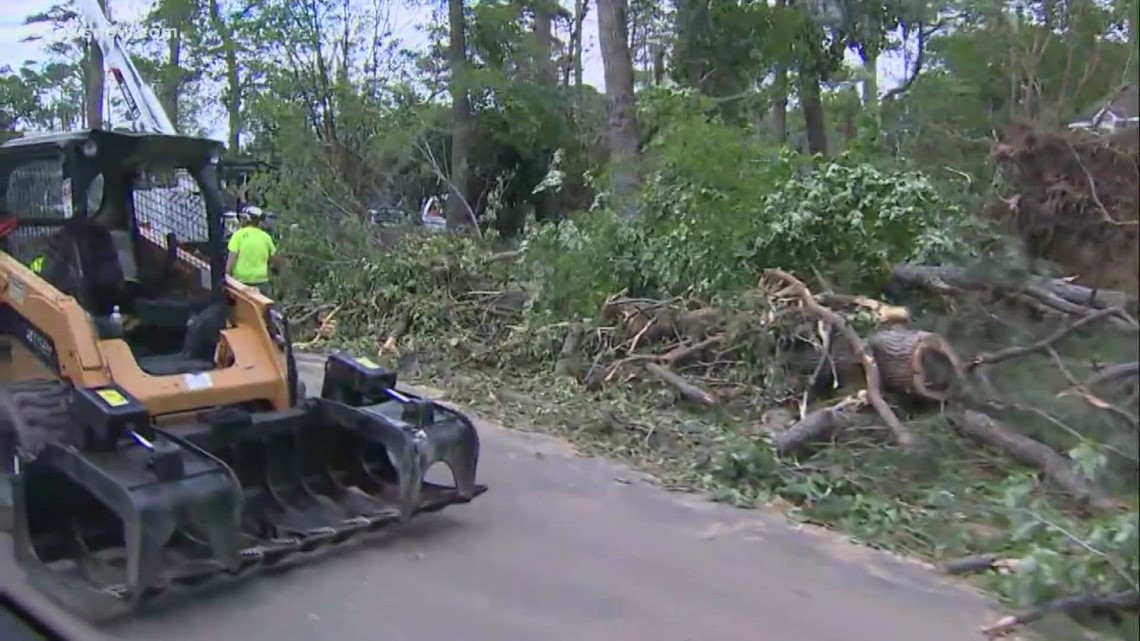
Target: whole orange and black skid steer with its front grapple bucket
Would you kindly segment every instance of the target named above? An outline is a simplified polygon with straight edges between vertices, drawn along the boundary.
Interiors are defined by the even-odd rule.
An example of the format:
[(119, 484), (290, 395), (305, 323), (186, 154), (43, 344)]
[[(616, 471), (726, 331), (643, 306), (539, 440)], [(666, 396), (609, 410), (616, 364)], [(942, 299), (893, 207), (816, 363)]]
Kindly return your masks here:
[(331, 356), (307, 397), (285, 316), (225, 276), (220, 151), (0, 145), (0, 529), (88, 618), (486, 490), (471, 421), (376, 363)]

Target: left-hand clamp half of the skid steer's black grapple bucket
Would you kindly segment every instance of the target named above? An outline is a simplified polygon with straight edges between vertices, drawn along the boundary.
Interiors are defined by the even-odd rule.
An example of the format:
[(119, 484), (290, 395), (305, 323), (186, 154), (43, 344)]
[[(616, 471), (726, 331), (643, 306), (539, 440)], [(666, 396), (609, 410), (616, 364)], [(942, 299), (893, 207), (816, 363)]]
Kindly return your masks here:
[(162, 590), (180, 533), (206, 542), (202, 569), (239, 567), (234, 473), (172, 435), (138, 439), (95, 452), (50, 444), (15, 480), (17, 560), (34, 584), (87, 616)]

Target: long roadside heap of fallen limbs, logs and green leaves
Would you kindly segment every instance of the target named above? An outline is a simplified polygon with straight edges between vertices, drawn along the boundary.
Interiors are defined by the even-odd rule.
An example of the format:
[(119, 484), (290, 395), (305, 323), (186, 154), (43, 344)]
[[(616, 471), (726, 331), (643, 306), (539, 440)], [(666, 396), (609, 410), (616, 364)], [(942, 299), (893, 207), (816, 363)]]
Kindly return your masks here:
[[(877, 193), (890, 186), (842, 177)], [(913, 203), (891, 210), (898, 219), (864, 222), (860, 234), (872, 240), (852, 249), (850, 203), (828, 210), (803, 187), (765, 201), (765, 211), (812, 197), (819, 220), (776, 233), (756, 217), (744, 233), (740, 217), (686, 211), (640, 227), (598, 214), (498, 254), (469, 238), (413, 238), (383, 257), (321, 266), (294, 292), (291, 314), (315, 348), (343, 341), (397, 367), (415, 363), (409, 372), (467, 395), (459, 398), (526, 412), (586, 452), (628, 456), (677, 487), (741, 504), (775, 496), (865, 541), (906, 537), (906, 551), (927, 557), (1010, 559), (1010, 582), (1037, 581), (1034, 563), (1019, 561), (1041, 550), (1057, 550), (1049, 562), (1065, 568), (1104, 558), (1130, 567), (1117, 563), (1124, 545), (1088, 541), (1093, 530), (1129, 541), (1126, 524), (1113, 520), (1119, 502), (1106, 461), (1134, 472), (1134, 454), (1110, 448), (1119, 433), (1135, 435), (1121, 414), (1137, 387), (1134, 297), (917, 262), (922, 228), (906, 217), (939, 219)], [(735, 233), (690, 242), (693, 229), (716, 225)], [(808, 233), (837, 236), (805, 246)], [(905, 251), (887, 237), (903, 238)], [(845, 252), (866, 269), (839, 291), (817, 268)], [(903, 262), (885, 267), (882, 255)], [(789, 268), (765, 270), (768, 257)], [(915, 293), (934, 293), (944, 309)], [(1115, 423), (1100, 425), (1104, 416)], [(1005, 505), (1007, 495), (1020, 503)], [(1025, 529), (1011, 516), (1028, 510), (1024, 496), (1059, 511), (1048, 536), (1009, 534)], [(914, 534), (915, 524), (961, 532), (972, 521), (1001, 534)], [(1074, 550), (1061, 530), (1083, 533), (1073, 537), (1088, 547)], [(1090, 570), (1085, 583), (1113, 593), (1104, 574)]]

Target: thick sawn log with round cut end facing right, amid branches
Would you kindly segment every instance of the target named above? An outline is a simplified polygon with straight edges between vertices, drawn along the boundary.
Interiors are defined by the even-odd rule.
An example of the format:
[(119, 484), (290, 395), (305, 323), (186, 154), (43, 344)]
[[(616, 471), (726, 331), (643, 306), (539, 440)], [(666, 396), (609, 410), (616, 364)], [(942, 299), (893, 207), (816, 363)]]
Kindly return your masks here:
[(890, 391), (940, 403), (961, 381), (961, 359), (938, 334), (895, 327), (874, 334), (869, 342), (883, 388)]

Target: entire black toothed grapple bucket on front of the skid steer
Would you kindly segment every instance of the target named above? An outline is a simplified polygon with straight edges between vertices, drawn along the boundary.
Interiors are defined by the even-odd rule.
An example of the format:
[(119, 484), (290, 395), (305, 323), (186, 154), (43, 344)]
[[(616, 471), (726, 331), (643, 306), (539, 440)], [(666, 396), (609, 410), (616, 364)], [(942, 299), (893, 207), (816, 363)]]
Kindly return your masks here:
[[(323, 398), (294, 409), (218, 408), (168, 431), (95, 421), (84, 447), (49, 446), (13, 486), (18, 560), (65, 606), (104, 618), (486, 492), (470, 420), (357, 365), (332, 357)], [(439, 462), (454, 485), (424, 480)]]

